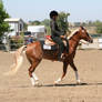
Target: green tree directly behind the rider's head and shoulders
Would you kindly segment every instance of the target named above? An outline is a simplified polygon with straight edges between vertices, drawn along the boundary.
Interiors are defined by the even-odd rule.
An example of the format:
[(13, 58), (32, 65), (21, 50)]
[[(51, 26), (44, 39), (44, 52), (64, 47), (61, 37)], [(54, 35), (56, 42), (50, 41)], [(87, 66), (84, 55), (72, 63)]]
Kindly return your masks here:
[(59, 13), (58, 24), (59, 24), (60, 29), (64, 32), (69, 31), (69, 22), (68, 22), (69, 16), (70, 16), (70, 13), (65, 13), (65, 12)]

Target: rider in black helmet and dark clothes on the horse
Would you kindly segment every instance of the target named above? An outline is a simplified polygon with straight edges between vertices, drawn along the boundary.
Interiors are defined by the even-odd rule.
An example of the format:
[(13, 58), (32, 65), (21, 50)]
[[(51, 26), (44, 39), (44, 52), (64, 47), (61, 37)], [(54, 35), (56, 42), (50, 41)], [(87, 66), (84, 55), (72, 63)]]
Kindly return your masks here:
[(61, 61), (63, 58), (63, 51), (64, 51), (64, 43), (62, 42), (62, 39), (64, 39), (64, 33), (59, 29), (57, 19), (58, 19), (58, 12), (51, 11), (50, 12), (50, 28), (51, 28), (51, 38), (52, 40), (59, 44), (59, 53), (58, 53), (58, 60)]

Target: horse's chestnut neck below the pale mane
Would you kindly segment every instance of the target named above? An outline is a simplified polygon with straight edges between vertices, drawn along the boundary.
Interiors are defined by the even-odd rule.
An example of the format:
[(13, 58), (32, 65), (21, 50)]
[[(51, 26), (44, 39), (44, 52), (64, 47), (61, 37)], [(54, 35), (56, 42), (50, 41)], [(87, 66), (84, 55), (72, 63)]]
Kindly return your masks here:
[(71, 37), (71, 39), (69, 40), (69, 43), (71, 44), (71, 48), (76, 49), (76, 47), (79, 45), (80, 42), (80, 38), (79, 34), (74, 34), (73, 37)]

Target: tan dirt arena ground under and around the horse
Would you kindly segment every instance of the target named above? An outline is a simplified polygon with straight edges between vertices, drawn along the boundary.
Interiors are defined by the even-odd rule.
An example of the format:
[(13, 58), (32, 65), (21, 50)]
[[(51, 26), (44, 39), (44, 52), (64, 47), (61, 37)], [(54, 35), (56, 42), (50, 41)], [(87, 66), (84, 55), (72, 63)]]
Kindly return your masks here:
[(12, 53), (0, 51), (0, 102), (102, 102), (102, 50), (78, 50), (74, 62), (82, 85), (75, 84), (74, 72), (69, 67), (65, 79), (59, 86), (53, 86), (61, 75), (62, 63), (43, 60), (35, 70), (43, 85), (33, 88), (26, 57), (14, 76), (4, 76), (12, 58)]

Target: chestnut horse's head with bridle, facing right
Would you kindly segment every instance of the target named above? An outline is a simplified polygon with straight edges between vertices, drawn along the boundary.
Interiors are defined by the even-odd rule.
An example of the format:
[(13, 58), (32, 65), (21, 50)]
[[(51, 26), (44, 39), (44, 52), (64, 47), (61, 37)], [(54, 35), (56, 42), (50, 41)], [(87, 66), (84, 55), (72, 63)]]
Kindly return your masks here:
[(86, 32), (86, 30), (83, 27), (80, 27), (80, 38), (92, 43), (93, 39), (89, 35), (89, 33)]

